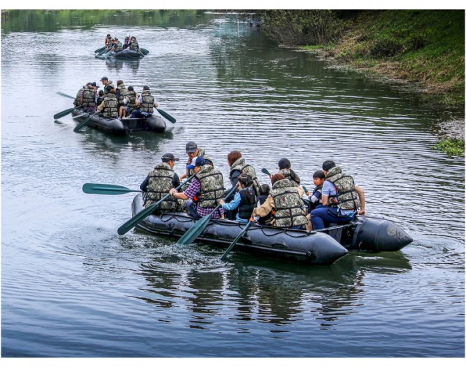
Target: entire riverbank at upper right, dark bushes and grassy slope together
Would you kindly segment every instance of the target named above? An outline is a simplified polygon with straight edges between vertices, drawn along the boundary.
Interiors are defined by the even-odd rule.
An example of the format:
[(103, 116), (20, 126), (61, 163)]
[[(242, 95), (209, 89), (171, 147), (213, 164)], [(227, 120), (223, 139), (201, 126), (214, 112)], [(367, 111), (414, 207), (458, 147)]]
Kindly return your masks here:
[[(464, 10), (257, 10), (257, 25), (284, 47), (318, 53), (374, 77), (415, 86), (449, 112), (434, 149), (465, 153)], [(413, 89), (415, 90), (415, 89)]]

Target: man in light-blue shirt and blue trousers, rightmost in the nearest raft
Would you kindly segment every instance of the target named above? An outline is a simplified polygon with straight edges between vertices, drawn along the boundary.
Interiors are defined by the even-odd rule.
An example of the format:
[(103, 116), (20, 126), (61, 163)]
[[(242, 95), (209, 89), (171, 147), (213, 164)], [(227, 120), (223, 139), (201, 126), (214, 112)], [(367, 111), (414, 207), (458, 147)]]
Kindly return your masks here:
[(323, 207), (312, 210), (312, 228), (320, 230), (326, 227), (326, 223), (342, 224), (353, 220), (358, 213), (364, 215), (364, 190), (355, 185), (353, 177), (344, 174), (332, 160), (323, 162), (322, 170), (326, 174), (322, 186)]

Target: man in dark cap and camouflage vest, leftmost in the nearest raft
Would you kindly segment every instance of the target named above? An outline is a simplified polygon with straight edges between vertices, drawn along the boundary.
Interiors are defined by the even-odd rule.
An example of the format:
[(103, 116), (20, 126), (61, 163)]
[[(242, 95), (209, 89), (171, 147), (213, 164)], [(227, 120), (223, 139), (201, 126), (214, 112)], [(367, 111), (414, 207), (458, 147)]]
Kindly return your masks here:
[[(179, 161), (179, 158), (176, 158), (173, 153), (165, 153), (162, 156), (162, 162), (154, 167), (140, 185), (140, 190), (145, 192), (145, 207), (160, 201), (170, 190), (175, 190), (176, 192), (175, 188), (179, 186), (179, 178), (173, 170), (175, 161)], [(183, 199), (168, 196), (154, 210), (154, 213), (179, 212), (184, 210), (185, 207), (186, 201)]]

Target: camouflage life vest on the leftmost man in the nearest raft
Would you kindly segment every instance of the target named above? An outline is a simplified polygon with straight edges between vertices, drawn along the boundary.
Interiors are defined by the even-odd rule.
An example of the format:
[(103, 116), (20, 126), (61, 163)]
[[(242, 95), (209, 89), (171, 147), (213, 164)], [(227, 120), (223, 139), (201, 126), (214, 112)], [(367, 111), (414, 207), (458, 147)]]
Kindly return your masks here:
[[(160, 201), (163, 196), (166, 196), (173, 187), (173, 178), (175, 172), (166, 162), (161, 162), (156, 165), (152, 172), (149, 173), (149, 183), (147, 185), (146, 199), (144, 206), (150, 206), (152, 203)], [(173, 196), (168, 196), (155, 212), (177, 212), (184, 208), (184, 201), (176, 199)]]

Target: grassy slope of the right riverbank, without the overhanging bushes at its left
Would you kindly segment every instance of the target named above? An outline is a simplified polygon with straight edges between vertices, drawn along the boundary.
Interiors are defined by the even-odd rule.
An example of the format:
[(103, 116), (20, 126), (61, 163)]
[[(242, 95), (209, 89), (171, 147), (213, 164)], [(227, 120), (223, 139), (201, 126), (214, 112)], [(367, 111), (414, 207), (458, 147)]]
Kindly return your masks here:
[(465, 154), (463, 10), (358, 12), (344, 21), (339, 40), (321, 49), (326, 57), (366, 74), (415, 83), (426, 103), (455, 111), (447, 124), (451, 128), (433, 149), (454, 156)]

